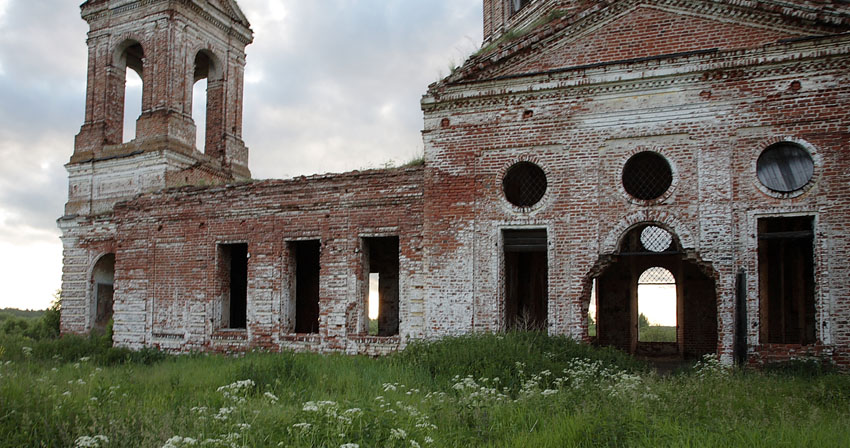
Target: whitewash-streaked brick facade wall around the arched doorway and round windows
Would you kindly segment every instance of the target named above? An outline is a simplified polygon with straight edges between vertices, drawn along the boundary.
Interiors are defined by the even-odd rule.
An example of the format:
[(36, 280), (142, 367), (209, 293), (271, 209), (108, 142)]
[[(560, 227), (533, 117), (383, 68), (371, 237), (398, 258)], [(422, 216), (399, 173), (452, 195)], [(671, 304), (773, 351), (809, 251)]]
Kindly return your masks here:
[[(499, 330), (500, 229), (538, 227), (550, 238), (549, 331), (586, 338), (591, 279), (631, 226), (655, 222), (714, 280), (718, 336), (695, 344), (714, 345), (726, 361), (734, 275), (746, 269), (757, 355), (755, 219), (796, 213), (817, 219), (818, 338), (846, 346), (850, 197), (839, 190), (848, 180), (848, 44), (842, 36), (434, 86), (423, 100), (431, 334)], [(755, 161), (777, 141), (799, 142), (815, 160), (815, 180), (798, 194), (771, 193), (757, 179)], [(654, 201), (631, 198), (620, 180), (626, 160), (646, 150), (667, 158), (674, 173)], [(541, 166), (549, 181), (530, 209), (501, 191), (506, 169), (521, 160)]]

